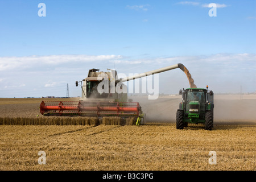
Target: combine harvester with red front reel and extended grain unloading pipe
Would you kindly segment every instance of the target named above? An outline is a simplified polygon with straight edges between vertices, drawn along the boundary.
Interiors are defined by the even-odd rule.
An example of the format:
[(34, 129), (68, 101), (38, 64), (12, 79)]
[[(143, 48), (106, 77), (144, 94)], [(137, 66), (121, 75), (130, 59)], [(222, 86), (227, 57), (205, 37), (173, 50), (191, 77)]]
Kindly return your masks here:
[[(117, 71), (111, 69), (109, 72), (90, 69), (88, 77), (76, 81), (76, 86), (80, 85), (82, 89), (79, 101), (42, 101), (40, 113), (59, 116), (133, 117), (137, 118), (136, 125), (140, 125), (145, 114), (138, 102), (127, 102), (127, 86), (122, 83), (176, 68), (184, 71), (183, 64), (175, 64), (121, 79), (118, 79)], [(115, 89), (117, 85), (122, 92)], [(102, 87), (104, 92), (98, 90)]]

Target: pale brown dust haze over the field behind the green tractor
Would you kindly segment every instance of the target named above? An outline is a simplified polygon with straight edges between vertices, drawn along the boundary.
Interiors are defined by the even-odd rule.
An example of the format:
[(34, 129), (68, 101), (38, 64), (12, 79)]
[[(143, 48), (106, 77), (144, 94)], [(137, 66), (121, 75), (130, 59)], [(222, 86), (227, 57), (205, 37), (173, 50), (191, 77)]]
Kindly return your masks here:
[[(129, 97), (139, 102), (146, 122), (176, 122), (181, 96), (159, 96), (157, 100), (147, 97)], [(240, 96), (214, 96), (214, 123), (256, 124), (256, 95), (240, 100)]]

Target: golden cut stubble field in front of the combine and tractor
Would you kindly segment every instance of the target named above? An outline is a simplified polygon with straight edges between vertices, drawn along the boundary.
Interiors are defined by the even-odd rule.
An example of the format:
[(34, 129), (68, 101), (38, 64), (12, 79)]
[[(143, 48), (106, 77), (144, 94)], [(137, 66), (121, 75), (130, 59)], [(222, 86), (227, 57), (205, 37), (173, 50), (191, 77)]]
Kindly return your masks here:
[[(3, 104), (0, 99), (0, 119), (37, 118), (42, 99), (24, 100)], [(253, 171), (255, 134), (254, 122), (228, 120), (216, 122), (212, 131), (200, 124), (176, 130), (174, 121), (142, 126), (0, 125), (0, 170)], [(39, 151), (46, 152), (45, 165), (38, 164)], [(216, 152), (216, 164), (209, 164), (210, 151)]]

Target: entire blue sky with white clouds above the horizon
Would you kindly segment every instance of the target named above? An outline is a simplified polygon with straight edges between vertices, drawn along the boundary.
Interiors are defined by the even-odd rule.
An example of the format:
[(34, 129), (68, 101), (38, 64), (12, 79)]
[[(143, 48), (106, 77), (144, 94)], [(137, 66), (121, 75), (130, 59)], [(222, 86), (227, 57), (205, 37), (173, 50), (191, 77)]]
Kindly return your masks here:
[[(256, 90), (253, 0), (0, 1), (0, 26), (0, 97), (65, 97), (67, 83), (76, 97), (91, 68), (128, 75), (177, 63), (198, 87)], [(189, 87), (178, 69), (159, 78), (160, 93)]]

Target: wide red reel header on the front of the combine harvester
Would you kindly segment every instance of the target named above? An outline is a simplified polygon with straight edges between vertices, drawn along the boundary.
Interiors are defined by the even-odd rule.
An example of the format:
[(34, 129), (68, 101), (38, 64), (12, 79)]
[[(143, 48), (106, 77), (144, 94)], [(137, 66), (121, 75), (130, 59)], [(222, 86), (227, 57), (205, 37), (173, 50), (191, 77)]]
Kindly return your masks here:
[(138, 102), (84, 102), (84, 101), (42, 101), (42, 115), (81, 116), (81, 117), (121, 117), (137, 118), (141, 125), (144, 118)]

